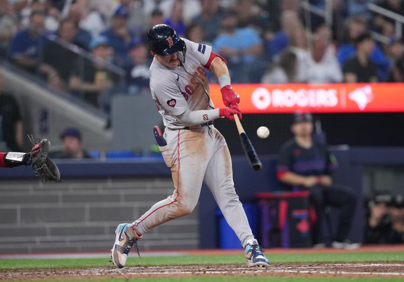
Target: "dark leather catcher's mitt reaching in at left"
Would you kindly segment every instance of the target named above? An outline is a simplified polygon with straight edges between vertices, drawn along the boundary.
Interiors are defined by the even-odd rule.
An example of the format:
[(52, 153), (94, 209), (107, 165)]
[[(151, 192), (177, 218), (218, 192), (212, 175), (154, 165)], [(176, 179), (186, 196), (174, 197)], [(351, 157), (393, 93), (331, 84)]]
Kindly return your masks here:
[(51, 142), (48, 139), (36, 139), (28, 135), (32, 143), (32, 150), (30, 153), (30, 165), (35, 172), (35, 175), (42, 181), (55, 181), (61, 182), (60, 172), (54, 161), (47, 156)]

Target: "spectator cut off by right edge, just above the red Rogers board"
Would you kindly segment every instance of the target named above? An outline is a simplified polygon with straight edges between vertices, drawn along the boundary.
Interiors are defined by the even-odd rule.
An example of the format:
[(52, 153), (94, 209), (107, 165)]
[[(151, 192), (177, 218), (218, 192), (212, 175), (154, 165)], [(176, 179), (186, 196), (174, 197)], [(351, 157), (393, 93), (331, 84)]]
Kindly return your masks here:
[(392, 67), (387, 82), (404, 82), (404, 44), (402, 41), (393, 38), (389, 44), (388, 53)]

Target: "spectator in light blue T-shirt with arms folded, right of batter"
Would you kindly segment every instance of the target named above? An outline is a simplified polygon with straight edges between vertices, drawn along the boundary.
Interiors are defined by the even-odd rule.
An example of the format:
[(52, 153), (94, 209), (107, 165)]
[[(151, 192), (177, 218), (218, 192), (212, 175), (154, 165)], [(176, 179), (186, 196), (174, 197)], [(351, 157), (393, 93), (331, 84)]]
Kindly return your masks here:
[(227, 59), (232, 81), (259, 82), (262, 74), (257, 73), (261, 72), (258, 58), (263, 53), (259, 34), (251, 28), (237, 28), (236, 13), (232, 10), (223, 13), (221, 23), (222, 33), (213, 42), (213, 50)]

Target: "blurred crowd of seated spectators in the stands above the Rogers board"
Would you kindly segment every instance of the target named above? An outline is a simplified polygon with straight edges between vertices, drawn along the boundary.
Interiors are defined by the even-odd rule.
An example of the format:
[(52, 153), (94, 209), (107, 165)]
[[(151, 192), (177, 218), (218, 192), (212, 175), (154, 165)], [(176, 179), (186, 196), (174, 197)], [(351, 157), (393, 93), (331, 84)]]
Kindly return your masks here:
[[(2, 1), (0, 56), (49, 87), (106, 111), (113, 93), (148, 93), (152, 57), (145, 33), (160, 23), (211, 44), (227, 59), (233, 83), (404, 81), (404, 48), (396, 25), (367, 7), (374, 3), (403, 15), (404, 3), (332, 3), (333, 21), (327, 26), (298, 0)], [(325, 2), (310, 4), (323, 9)], [(385, 42), (376, 42), (370, 32), (383, 35)]]

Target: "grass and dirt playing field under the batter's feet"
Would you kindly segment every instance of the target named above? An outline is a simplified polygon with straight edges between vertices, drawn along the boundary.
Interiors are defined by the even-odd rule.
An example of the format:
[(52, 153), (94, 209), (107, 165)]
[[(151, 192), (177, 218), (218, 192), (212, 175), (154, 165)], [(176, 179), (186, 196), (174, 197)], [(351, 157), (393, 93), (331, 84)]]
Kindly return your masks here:
[[(104, 282), (404, 280), (404, 252), (401, 250), (338, 253), (311, 253), (309, 250), (307, 253), (276, 254), (267, 251), (267, 256), (271, 260), (271, 267), (264, 270), (246, 267), (242, 252), (143, 258), (132, 255), (128, 258), (127, 267), (122, 270), (112, 267), (109, 257), (3, 259), (0, 260), (0, 280), (75, 281), (83, 278)], [(339, 266), (341, 270), (338, 270)]]

